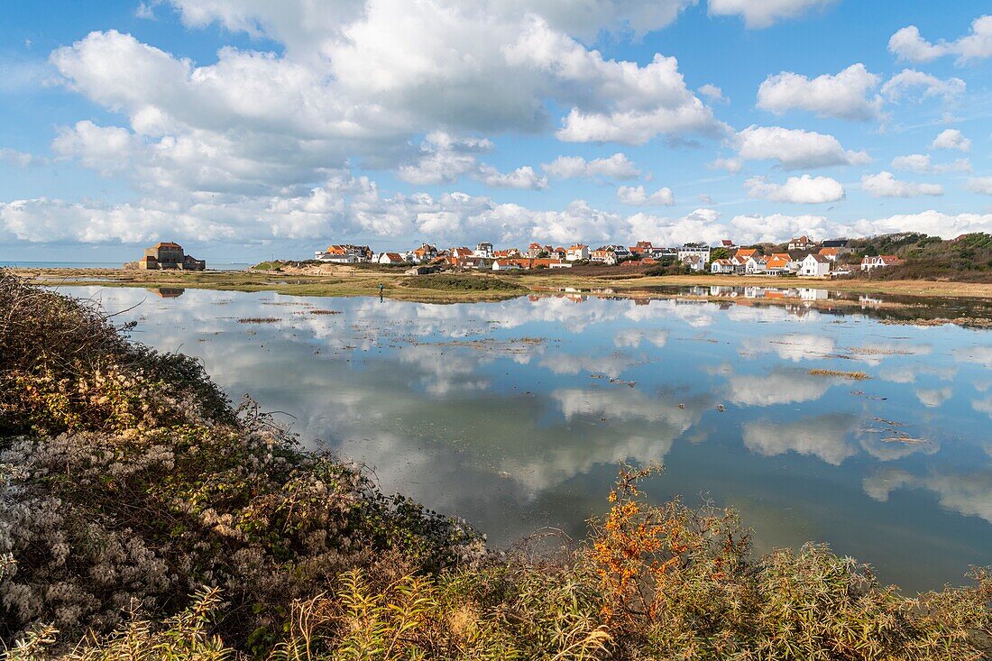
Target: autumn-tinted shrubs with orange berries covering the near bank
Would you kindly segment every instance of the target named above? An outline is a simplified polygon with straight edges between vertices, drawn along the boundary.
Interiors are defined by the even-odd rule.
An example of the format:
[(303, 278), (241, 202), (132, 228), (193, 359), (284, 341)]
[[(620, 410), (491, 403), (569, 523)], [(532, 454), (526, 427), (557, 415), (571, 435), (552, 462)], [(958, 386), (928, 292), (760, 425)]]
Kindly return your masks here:
[[(126, 331), (126, 329), (124, 330)], [(190, 358), (0, 274), (10, 659), (981, 659), (992, 576), (915, 597), (625, 468), (588, 540), (496, 553), (304, 452)]]

